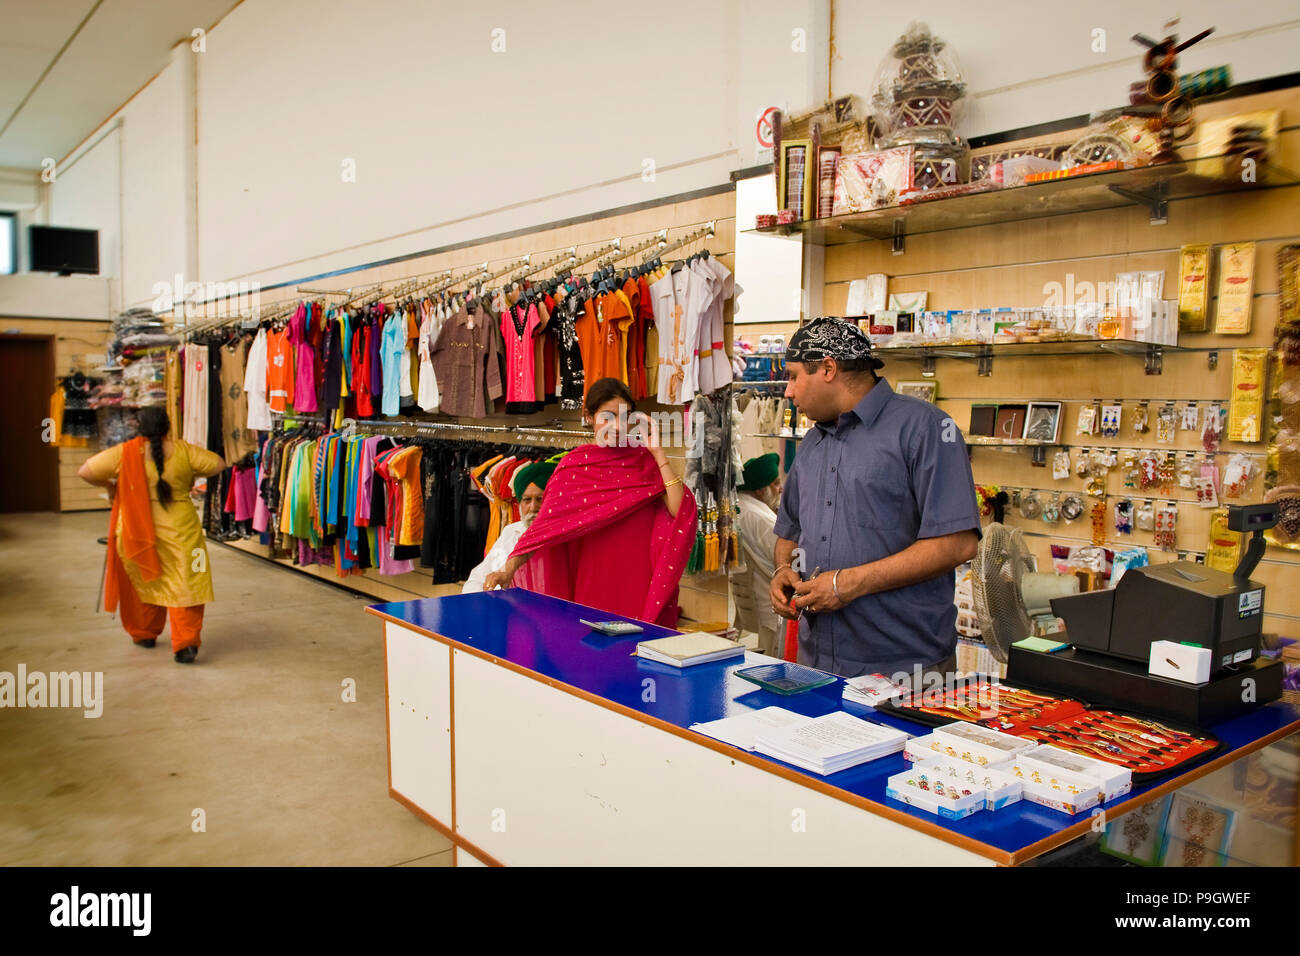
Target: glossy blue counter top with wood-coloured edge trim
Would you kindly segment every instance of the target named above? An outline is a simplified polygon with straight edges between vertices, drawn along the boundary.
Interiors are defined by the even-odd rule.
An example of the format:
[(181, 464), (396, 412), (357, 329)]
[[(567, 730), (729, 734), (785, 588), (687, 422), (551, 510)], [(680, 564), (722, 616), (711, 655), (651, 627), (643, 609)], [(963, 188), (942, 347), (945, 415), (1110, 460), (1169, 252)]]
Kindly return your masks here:
[[(838, 697), (840, 684), (831, 685), (833, 693), (829, 695), (810, 692), (785, 697), (762, 691), (736, 676), (736, 670), (748, 666), (738, 659), (697, 665), (684, 670), (641, 659), (632, 653), (638, 641), (676, 632), (647, 624), (644, 633), (606, 637), (580, 624), (578, 618), (620, 619), (616, 615), (520, 588), (381, 604), (368, 610), (415, 631), (442, 637), (469, 652), (510, 662), (516, 669), (682, 730), (693, 723), (716, 721), (746, 710), (780, 706), (810, 717), (845, 710), (876, 723), (900, 727), (916, 736), (930, 732), (930, 728), (915, 722), (878, 714), (871, 708), (842, 701)], [(746, 658), (748, 663), (755, 663), (753, 654), (746, 654)], [(1300, 710), (1283, 702), (1273, 702), (1247, 717), (1209, 730), (1225, 745), (1210, 763), (1192, 767), (1153, 784), (1135, 787), (1121, 800), (1105, 804), (1108, 812), (1112, 808), (1123, 808), (1143, 795), (1153, 799), (1175, 790), (1204, 775), (1206, 767), (1221, 766), (1251, 749), (1257, 749), (1261, 741), (1300, 730)], [(777, 765), (788, 773), (815, 780), (819, 787), (829, 787), (832, 792), (840, 791), (841, 796), (852, 795), (858, 799), (855, 803), (866, 800), (888, 808), (890, 816), (916, 821), (918, 829), (931, 832), (937, 829), (965, 838), (962, 842), (972, 840), (987, 848), (984, 851), (987, 856), (1000, 862), (1023, 862), (1074, 839), (1087, 831), (1091, 814), (1096, 813), (1092, 810), (1071, 817), (1020, 801), (1001, 810), (984, 810), (963, 819), (946, 821), (885, 796), (885, 778), (906, 767), (902, 754), (850, 767), (829, 777), (819, 777), (762, 754), (729, 748), (693, 731), (686, 730), (686, 732), (701, 743), (722, 747), (758, 766)]]

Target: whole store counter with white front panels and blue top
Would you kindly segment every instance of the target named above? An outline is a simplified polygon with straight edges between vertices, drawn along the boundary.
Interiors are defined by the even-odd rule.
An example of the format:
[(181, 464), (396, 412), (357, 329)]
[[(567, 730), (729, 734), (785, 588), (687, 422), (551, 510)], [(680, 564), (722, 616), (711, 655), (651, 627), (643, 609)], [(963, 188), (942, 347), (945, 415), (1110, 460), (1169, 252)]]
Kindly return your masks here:
[[(816, 692), (784, 697), (733, 671), (633, 656), (578, 618), (602, 611), (519, 588), (381, 604), (389, 793), (456, 849), (458, 865), (1022, 864), (1096, 826), (1020, 801), (958, 821), (885, 797), (902, 754), (819, 777), (688, 730), (746, 709), (844, 709), (927, 728)], [(1108, 819), (1300, 730), (1282, 702), (1208, 728), (1213, 760), (1104, 805)]]

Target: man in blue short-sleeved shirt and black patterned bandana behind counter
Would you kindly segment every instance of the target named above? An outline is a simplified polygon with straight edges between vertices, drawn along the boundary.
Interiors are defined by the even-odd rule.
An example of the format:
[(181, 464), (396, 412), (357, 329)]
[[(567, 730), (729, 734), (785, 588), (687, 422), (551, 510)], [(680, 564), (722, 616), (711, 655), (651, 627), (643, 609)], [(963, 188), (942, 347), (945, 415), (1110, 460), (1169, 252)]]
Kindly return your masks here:
[(980, 536), (961, 432), (876, 376), (884, 363), (853, 323), (809, 323), (785, 360), (785, 395), (816, 423), (781, 494), (770, 593), (800, 618), (800, 662), (842, 676), (952, 672), (953, 570)]

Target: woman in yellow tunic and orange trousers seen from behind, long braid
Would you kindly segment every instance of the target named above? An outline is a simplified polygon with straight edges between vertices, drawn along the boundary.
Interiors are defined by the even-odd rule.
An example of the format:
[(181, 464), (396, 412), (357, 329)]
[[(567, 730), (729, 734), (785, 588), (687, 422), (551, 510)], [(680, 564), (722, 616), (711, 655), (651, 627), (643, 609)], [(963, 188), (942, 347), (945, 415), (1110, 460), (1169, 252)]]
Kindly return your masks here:
[(199, 653), (203, 606), (212, 600), (212, 572), (190, 486), (220, 475), (221, 455), (166, 437), (172, 423), (162, 408), (140, 408), (140, 434), (88, 459), (78, 472), (112, 486), (104, 571), (104, 610), (121, 611), (131, 639), (152, 648), (172, 620), (172, 652), (178, 663)]

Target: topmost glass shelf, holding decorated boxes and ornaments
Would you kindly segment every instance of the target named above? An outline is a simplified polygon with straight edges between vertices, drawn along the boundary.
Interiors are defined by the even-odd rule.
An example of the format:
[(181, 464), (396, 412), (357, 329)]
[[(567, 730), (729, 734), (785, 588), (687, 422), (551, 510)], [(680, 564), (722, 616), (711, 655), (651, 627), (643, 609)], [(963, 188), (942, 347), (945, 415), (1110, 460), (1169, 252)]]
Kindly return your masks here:
[(1167, 221), (1171, 202), (1300, 185), (1300, 176), (1266, 161), (1253, 169), (1252, 181), (1244, 172), (1222, 176), (1239, 165), (1236, 156), (1204, 156), (741, 232), (801, 237), (815, 246), (892, 239), (894, 252), (902, 252), (907, 235), (1131, 206), (1145, 207), (1157, 225)]

